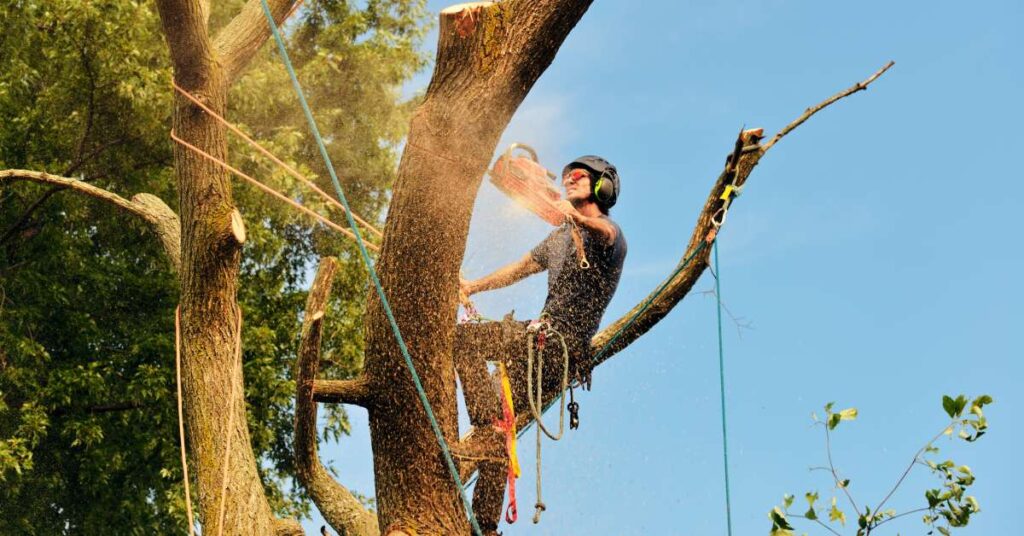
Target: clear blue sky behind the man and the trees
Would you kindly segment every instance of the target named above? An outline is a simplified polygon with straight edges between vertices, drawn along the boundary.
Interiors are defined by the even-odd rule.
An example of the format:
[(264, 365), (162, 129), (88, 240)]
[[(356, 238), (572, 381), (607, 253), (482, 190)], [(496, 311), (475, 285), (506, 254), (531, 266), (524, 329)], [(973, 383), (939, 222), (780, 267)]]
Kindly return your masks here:
[[(435, 14), (449, 5), (428, 3)], [(519, 108), (500, 152), (532, 145), (551, 169), (598, 154), (622, 176), (612, 209), (629, 256), (605, 324), (679, 261), (736, 132), (771, 134), (805, 108), (896, 65), (812, 118), (751, 175), (720, 239), (732, 529), (767, 534), (782, 495), (836, 494), (811, 413), (855, 407), (831, 454), (872, 507), (947, 423), (941, 398), (991, 395), (989, 432), (940, 440), (982, 511), (955, 534), (1020, 534), (1024, 477), (1024, 4), (598, 0)], [(436, 33), (425, 46), (432, 49)], [(425, 87), (429, 74), (410, 90)], [(464, 271), (521, 256), (550, 228), (486, 181)], [(545, 280), (481, 294), (481, 313), (536, 316)], [(594, 373), (581, 426), (543, 445), (547, 511), (530, 523), (532, 431), (519, 443), (518, 535), (726, 534), (715, 301), (709, 275), (651, 332)], [(748, 325), (740, 329), (738, 325)], [(339, 481), (373, 493), (366, 412), (323, 448)], [(1015, 416), (1016, 415), (1016, 416)], [(555, 414), (549, 416), (554, 422)], [(888, 503), (925, 504), (915, 468)], [(840, 496), (842, 506), (842, 496)], [(843, 534), (855, 532), (849, 513)], [(305, 523), (318, 529), (316, 516)], [(798, 533), (825, 534), (795, 523)], [(924, 534), (920, 516), (879, 534)]]

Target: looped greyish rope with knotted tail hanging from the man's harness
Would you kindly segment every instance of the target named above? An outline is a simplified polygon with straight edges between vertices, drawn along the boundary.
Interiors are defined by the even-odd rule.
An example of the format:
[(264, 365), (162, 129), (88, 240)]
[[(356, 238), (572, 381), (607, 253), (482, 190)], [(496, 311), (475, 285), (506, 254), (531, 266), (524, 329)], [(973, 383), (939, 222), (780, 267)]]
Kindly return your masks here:
[[(562, 404), (558, 411), (558, 434), (552, 434), (544, 425), (543, 412), (540, 408), (544, 405), (544, 348), (547, 339), (551, 337), (557, 339), (562, 346), (562, 381), (559, 397)], [(534, 352), (534, 341), (537, 340), (537, 353)], [(534, 391), (534, 367), (537, 366), (537, 391)], [(537, 504), (534, 512), (534, 523), (541, 523), (541, 512), (547, 509), (541, 495), (541, 434), (543, 432), (552, 441), (562, 439), (565, 432), (565, 388), (569, 383), (569, 352), (565, 344), (565, 338), (551, 325), (547, 315), (542, 314), (539, 320), (531, 322), (526, 327), (526, 400), (529, 405), (529, 412), (537, 422)]]

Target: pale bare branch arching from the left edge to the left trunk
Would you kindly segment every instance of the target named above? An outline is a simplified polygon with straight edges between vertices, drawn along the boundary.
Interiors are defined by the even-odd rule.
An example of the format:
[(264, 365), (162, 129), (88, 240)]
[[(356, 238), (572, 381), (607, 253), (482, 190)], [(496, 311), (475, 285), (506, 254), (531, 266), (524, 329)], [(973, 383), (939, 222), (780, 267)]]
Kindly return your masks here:
[(69, 189), (79, 194), (85, 194), (91, 198), (105, 201), (129, 214), (142, 218), (146, 223), (150, 223), (153, 232), (160, 239), (161, 244), (164, 246), (164, 252), (170, 258), (171, 266), (175, 271), (179, 270), (181, 265), (181, 232), (178, 216), (157, 196), (152, 194), (137, 194), (129, 201), (117, 194), (82, 180), (26, 169), (2, 170), (0, 171), (0, 181), (4, 179), (32, 180), (34, 182), (56, 184), (59, 188)]

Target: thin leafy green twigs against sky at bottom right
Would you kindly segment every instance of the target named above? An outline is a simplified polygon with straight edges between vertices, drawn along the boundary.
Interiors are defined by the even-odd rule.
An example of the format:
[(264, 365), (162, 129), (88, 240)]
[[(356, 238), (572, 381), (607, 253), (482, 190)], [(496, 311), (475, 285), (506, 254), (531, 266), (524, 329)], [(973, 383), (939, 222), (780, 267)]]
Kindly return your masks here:
[[(935, 462), (927, 459), (927, 455), (938, 453), (939, 449), (933, 444), (943, 436), (952, 436), (954, 431), (958, 430), (957, 437), (963, 439), (968, 443), (973, 443), (978, 440), (988, 427), (988, 423), (985, 420), (983, 408), (992, 403), (992, 398), (987, 395), (982, 395), (970, 402), (970, 409), (965, 414), (965, 410), (968, 409), (968, 398), (961, 395), (955, 399), (951, 397), (942, 397), (942, 409), (946, 412), (946, 415), (951, 419), (950, 422), (931, 439), (921, 450), (914, 454), (913, 459), (907, 466), (906, 470), (896, 482), (896, 485), (892, 488), (888, 495), (882, 499), (879, 505), (871, 511), (871, 508), (864, 506), (861, 511), (856, 502), (854, 502), (853, 496), (850, 494), (850, 480), (841, 479), (839, 471), (831, 462), (831, 441), (830, 431), (835, 430), (840, 422), (844, 420), (853, 420), (857, 417), (857, 410), (854, 408), (849, 408), (842, 410), (838, 413), (833, 412), (834, 403), (829, 402), (825, 405), (825, 420), (820, 421), (817, 415), (812, 414), (815, 424), (823, 425), (825, 430), (825, 449), (828, 454), (828, 467), (825, 467), (833, 477), (833, 485), (836, 490), (842, 491), (845, 497), (848, 499), (850, 506), (854, 509), (857, 516), (857, 536), (868, 536), (874, 531), (879, 526), (888, 523), (897, 518), (908, 516), (915, 512), (926, 512), (924, 516), (925, 525), (931, 527), (933, 530), (928, 534), (933, 534), (934, 531), (948, 536), (952, 528), (966, 527), (971, 520), (971, 516), (981, 511), (978, 504), (978, 500), (973, 496), (967, 495), (967, 489), (974, 484), (975, 477), (971, 471), (971, 468), (967, 465), (957, 466), (952, 460), (945, 460), (942, 462)], [(939, 478), (942, 482), (942, 486), (936, 489), (929, 489), (925, 491), (925, 500), (927, 506), (918, 509), (905, 511), (898, 513), (893, 508), (882, 509), (886, 502), (892, 497), (893, 493), (900, 487), (903, 483), (903, 479), (906, 478), (907, 473), (916, 465), (924, 465), (931, 469), (932, 473)], [(769, 534), (772, 536), (782, 536), (792, 535), (793, 527), (790, 526), (788, 518), (804, 519), (807, 521), (814, 522), (815, 524), (823, 527), (831, 534), (840, 534), (839, 529), (846, 526), (847, 517), (846, 511), (839, 506), (839, 500), (837, 495), (833, 495), (831, 502), (827, 508), (828, 523), (826, 524), (822, 521), (823, 512), (819, 511), (815, 507), (815, 503), (818, 500), (818, 492), (807, 492), (805, 494), (807, 498), (808, 509), (803, 514), (790, 513), (788, 509), (793, 505), (794, 496), (786, 494), (782, 497), (782, 506), (775, 506), (768, 513), (768, 518), (772, 522), (772, 526)], [(838, 527), (836, 523), (838, 522)], [(829, 525), (831, 524), (831, 525)]]

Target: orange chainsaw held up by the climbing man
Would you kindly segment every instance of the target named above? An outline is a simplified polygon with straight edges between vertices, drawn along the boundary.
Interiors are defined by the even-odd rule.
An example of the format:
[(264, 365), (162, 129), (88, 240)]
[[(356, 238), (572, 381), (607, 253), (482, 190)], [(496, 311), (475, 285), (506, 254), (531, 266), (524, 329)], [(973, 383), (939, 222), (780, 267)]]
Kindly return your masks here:
[[(518, 152), (518, 153), (517, 153)], [(540, 164), (537, 151), (525, 143), (512, 143), (487, 171), (490, 183), (541, 219), (552, 225), (565, 222), (565, 213), (555, 206), (562, 195), (555, 188), (557, 175)]]

